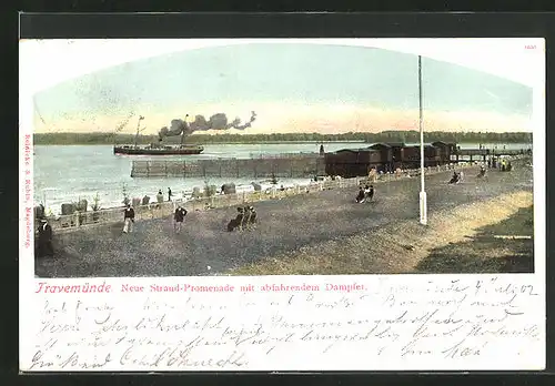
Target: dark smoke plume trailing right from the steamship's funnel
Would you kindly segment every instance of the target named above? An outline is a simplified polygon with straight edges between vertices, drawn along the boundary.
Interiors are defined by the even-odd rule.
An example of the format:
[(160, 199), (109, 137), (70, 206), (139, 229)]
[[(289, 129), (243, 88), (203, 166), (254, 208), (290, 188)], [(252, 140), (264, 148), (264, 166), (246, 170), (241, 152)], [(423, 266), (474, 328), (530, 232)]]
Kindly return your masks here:
[(253, 111), (251, 114), (251, 119), (249, 122), (241, 123), (239, 118), (235, 118), (233, 121), (229, 122), (228, 115), (224, 113), (216, 113), (210, 116), (206, 121), (204, 115), (196, 115), (194, 121), (191, 123), (186, 123), (181, 119), (175, 119), (171, 121), (170, 128), (163, 126), (160, 129), (158, 133), (160, 141), (163, 140), (164, 136), (174, 136), (181, 135), (183, 132), (185, 135), (189, 135), (195, 131), (208, 131), (208, 130), (229, 130), (229, 129), (238, 129), (245, 130), (251, 126), (252, 122), (256, 120), (256, 113)]

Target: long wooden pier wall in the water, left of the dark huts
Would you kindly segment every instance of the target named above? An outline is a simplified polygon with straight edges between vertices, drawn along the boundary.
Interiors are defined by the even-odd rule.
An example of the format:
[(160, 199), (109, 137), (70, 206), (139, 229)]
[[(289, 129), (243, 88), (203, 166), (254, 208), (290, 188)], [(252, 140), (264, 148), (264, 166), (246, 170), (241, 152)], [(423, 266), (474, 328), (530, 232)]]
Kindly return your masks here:
[(300, 153), (254, 159), (133, 161), (131, 177), (304, 179), (325, 174), (324, 158)]

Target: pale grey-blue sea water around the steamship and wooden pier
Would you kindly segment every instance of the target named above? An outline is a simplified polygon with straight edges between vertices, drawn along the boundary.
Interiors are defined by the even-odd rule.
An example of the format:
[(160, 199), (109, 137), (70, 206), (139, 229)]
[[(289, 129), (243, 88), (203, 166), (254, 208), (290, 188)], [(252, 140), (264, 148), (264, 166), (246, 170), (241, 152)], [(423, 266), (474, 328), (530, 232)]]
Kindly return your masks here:
[[(326, 152), (341, 149), (367, 148), (363, 142), (331, 142), (324, 143)], [(504, 144), (496, 144), (503, 149)], [(529, 144), (506, 144), (506, 149), (528, 149)], [(462, 149), (477, 149), (477, 144), (461, 144)], [(493, 145), (486, 145), (493, 148)], [(131, 177), (133, 160), (181, 160), (193, 161), (201, 159), (236, 158), (249, 159), (261, 155), (282, 153), (314, 153), (320, 151), (320, 143), (272, 143), (272, 144), (206, 144), (204, 151), (198, 155), (115, 155), (111, 145), (36, 145), (34, 146), (34, 185), (33, 197), (38, 205), (42, 203), (47, 211), (59, 214), (62, 203), (72, 203), (87, 200), (92, 206), (98, 195), (102, 209), (120, 206), (125, 192), (130, 197), (149, 195), (155, 200), (159, 190), (168, 200), (168, 187), (171, 187), (173, 197), (189, 195), (194, 187), (203, 190), (205, 184), (220, 187), (224, 183), (235, 183), (238, 192), (250, 191), (252, 183), (258, 182), (263, 189), (270, 186), (268, 179), (236, 179), (236, 177), (163, 177), (147, 179)], [(292, 186), (310, 183), (306, 179), (280, 179), (278, 185)]]

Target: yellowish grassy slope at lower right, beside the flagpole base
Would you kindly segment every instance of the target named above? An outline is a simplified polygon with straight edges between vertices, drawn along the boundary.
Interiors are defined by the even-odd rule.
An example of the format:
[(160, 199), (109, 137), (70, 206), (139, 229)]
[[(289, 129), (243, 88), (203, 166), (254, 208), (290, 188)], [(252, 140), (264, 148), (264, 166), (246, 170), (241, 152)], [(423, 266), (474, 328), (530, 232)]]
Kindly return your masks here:
[[(492, 230), (533, 234), (532, 192), (434, 212), (428, 226), (389, 223), (232, 270), (232, 275), (533, 272), (533, 240), (481, 240)], [(522, 211), (527, 216), (522, 215)], [(501, 228), (503, 226), (503, 228)], [(516, 232), (516, 233), (515, 233)], [(477, 237), (474, 240), (473, 237)]]

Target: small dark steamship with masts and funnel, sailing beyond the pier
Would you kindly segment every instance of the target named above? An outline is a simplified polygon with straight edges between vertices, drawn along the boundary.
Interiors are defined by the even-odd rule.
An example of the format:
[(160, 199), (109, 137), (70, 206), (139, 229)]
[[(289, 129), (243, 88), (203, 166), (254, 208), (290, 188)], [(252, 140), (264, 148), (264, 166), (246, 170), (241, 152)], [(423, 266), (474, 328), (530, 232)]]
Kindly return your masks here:
[(127, 154), (127, 155), (194, 155), (200, 154), (204, 151), (203, 146), (184, 144), (185, 131), (181, 134), (181, 144), (169, 145), (161, 143), (151, 143), (150, 145), (138, 145), (139, 133), (144, 130), (140, 129), (141, 121), (144, 116), (139, 116), (139, 122), (137, 123), (137, 134), (134, 144), (121, 144), (113, 146), (114, 154)]

